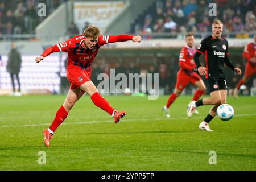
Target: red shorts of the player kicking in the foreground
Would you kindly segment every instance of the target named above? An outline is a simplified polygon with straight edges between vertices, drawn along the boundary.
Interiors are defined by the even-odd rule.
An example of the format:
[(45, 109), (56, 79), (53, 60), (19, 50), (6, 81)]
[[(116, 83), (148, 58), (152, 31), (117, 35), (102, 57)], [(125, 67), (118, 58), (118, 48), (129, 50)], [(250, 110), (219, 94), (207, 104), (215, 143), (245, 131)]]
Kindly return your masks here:
[(90, 81), (92, 69), (81, 69), (77, 66), (67, 67), (67, 79), (71, 83), (70, 90), (80, 88), (86, 81)]

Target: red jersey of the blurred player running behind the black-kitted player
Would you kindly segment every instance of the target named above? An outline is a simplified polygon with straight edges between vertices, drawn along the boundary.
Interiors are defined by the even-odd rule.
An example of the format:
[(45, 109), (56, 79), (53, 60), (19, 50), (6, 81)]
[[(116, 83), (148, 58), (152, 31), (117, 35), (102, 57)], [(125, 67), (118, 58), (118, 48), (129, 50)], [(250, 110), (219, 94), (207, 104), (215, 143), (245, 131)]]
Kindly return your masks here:
[(193, 56), (195, 55), (196, 48), (190, 48), (185, 46), (180, 51), (179, 56), (179, 66), (180, 70), (183, 71), (193, 71), (193, 68), (196, 68), (196, 64), (193, 61)]

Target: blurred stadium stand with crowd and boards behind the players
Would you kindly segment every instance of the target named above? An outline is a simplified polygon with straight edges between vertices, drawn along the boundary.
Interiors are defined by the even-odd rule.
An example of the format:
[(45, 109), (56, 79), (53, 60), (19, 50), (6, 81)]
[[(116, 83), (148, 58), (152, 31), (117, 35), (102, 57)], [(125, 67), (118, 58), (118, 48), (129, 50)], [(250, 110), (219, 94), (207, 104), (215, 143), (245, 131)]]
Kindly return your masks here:
[[(102, 34), (143, 36), (143, 42), (136, 46), (126, 42), (101, 48), (93, 64), (92, 80), (96, 85), (97, 75), (109, 74), (110, 68), (125, 74), (159, 73), (161, 93), (169, 94), (175, 87), (177, 61), (180, 48), (185, 44), (185, 33), (195, 32), (196, 45), (211, 34), (214, 17), (208, 16), (210, 2), (217, 3), (217, 17), (224, 22), (223, 35), (230, 43), (230, 60), (243, 71), (245, 61), (241, 54), (256, 32), (253, 0), (0, 0), (0, 94), (11, 92), (10, 76), (6, 72), (11, 41), (16, 42), (22, 53), (20, 81), (24, 94), (32, 93), (31, 90), (48, 90), (42, 93), (52, 94), (67, 92), (66, 53), (53, 53), (40, 64), (35, 63), (35, 56), (49, 46), (81, 34), (88, 23), (100, 27)], [(37, 15), (39, 3), (46, 4), (46, 17)], [(102, 4), (106, 5), (105, 10)], [(114, 5), (116, 9), (112, 9)], [(75, 18), (77, 16), (80, 19)], [(241, 76), (229, 69), (226, 74), (232, 90)], [(256, 87), (255, 76), (241, 92), (250, 94), (250, 87)], [(192, 86), (184, 94), (191, 92)]]

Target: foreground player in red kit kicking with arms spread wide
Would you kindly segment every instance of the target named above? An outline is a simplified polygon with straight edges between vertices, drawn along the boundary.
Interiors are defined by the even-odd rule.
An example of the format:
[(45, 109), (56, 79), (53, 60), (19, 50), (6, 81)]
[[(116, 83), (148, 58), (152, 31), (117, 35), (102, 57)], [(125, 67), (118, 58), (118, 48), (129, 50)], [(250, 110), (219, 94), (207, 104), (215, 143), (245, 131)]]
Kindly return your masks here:
[(68, 95), (63, 105), (57, 110), (51, 126), (43, 130), (44, 144), (49, 146), (49, 140), (59, 125), (67, 118), (69, 111), (75, 105), (76, 101), (86, 92), (89, 94), (93, 103), (112, 115), (114, 122), (125, 116), (125, 111), (114, 110), (103, 97), (100, 96), (96, 86), (90, 81), (92, 72), (92, 63), (97, 55), (98, 49), (108, 43), (123, 42), (132, 40), (133, 42), (141, 42), (141, 36), (133, 35), (100, 35), (100, 30), (96, 26), (89, 26), (84, 30), (84, 35), (75, 36), (69, 40), (58, 43), (49, 47), (42, 55), (36, 57), (36, 63), (39, 63), (44, 57), (53, 52), (67, 52), (67, 78), (71, 83)]

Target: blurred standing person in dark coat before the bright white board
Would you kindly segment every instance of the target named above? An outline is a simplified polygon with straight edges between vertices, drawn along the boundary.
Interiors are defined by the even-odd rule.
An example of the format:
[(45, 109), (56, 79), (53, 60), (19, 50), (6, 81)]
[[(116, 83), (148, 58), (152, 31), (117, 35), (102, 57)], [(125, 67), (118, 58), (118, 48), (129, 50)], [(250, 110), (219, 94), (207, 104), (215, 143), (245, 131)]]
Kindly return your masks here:
[[(16, 49), (16, 44), (13, 42), (11, 43), (11, 50), (8, 54), (8, 61), (7, 61), (6, 68), (7, 68), (7, 72), (9, 72), (11, 76), (11, 84), (13, 86), (14, 96), (21, 96), (20, 81), (19, 81), (19, 72), (20, 72), (21, 63), (22, 63), (22, 59), (21, 59), (20, 53)], [(14, 75), (18, 82), (18, 93), (15, 92)]]

